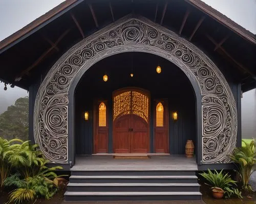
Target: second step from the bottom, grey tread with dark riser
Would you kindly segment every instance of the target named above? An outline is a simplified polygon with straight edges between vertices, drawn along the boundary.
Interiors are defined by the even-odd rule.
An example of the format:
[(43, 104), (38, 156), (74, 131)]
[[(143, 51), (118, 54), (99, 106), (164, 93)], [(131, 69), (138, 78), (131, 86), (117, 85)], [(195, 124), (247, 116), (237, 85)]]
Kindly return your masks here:
[(69, 183), (69, 192), (199, 192), (199, 184), (163, 183)]

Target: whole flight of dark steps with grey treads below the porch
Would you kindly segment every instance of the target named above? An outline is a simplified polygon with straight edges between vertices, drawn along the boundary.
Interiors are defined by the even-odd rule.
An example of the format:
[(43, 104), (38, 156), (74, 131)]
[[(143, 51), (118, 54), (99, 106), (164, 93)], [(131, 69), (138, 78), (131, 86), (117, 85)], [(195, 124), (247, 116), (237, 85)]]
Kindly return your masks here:
[(71, 170), (66, 201), (201, 200), (193, 170)]

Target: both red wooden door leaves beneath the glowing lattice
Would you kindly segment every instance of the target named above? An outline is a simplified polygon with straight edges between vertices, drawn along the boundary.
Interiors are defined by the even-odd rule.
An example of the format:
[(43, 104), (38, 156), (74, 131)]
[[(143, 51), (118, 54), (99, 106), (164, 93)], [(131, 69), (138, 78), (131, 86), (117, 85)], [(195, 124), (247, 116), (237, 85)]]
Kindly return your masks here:
[(148, 148), (148, 124), (134, 114), (124, 115), (114, 122), (115, 153), (146, 153)]

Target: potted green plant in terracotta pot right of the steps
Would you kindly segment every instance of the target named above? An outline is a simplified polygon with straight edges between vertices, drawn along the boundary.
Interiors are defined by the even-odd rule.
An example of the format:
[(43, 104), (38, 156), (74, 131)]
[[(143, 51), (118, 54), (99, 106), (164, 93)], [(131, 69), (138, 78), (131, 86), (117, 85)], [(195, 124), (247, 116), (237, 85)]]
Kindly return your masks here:
[(206, 185), (211, 187), (212, 196), (214, 198), (220, 199), (224, 195), (226, 198), (229, 198), (234, 194), (241, 198), (241, 192), (234, 188), (234, 186), (237, 186), (237, 182), (231, 179), (228, 173), (224, 174), (222, 171), (223, 169), (218, 173), (216, 170), (211, 172), (208, 169), (207, 173), (200, 173), (200, 175), (206, 179)]

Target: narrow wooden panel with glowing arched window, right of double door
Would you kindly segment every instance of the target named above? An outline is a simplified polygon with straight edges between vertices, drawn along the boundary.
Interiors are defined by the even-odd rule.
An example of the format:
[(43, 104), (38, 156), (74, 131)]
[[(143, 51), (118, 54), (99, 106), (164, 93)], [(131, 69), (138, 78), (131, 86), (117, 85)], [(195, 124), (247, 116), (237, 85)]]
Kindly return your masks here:
[(157, 100), (154, 108), (154, 150), (168, 153), (168, 105), (167, 100)]

